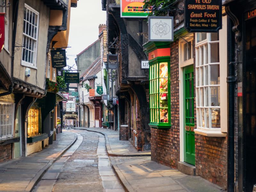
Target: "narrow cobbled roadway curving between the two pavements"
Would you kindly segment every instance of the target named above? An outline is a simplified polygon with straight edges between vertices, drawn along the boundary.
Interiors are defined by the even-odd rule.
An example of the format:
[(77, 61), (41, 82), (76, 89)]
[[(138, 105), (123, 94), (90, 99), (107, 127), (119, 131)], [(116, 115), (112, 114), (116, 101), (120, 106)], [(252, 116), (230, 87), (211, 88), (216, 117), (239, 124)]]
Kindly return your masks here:
[(77, 140), (44, 174), (35, 192), (124, 191), (106, 153), (105, 137), (96, 132), (70, 130)]

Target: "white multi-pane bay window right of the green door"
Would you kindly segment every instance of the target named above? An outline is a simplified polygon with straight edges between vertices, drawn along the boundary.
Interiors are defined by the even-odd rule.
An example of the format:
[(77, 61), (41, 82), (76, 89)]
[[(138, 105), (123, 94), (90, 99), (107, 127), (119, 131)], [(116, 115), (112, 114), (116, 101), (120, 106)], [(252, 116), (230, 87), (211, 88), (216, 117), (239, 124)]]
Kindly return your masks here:
[(219, 34), (196, 33), (195, 47), (197, 120), (195, 132), (199, 134), (202, 131), (220, 132)]

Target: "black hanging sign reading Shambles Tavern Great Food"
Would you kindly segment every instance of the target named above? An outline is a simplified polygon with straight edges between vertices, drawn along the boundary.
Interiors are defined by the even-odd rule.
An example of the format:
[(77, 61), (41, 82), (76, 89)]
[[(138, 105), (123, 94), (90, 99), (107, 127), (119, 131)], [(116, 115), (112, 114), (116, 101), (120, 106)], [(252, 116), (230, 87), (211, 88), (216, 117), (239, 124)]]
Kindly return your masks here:
[(222, 1), (185, 0), (188, 32), (218, 32), (222, 28)]

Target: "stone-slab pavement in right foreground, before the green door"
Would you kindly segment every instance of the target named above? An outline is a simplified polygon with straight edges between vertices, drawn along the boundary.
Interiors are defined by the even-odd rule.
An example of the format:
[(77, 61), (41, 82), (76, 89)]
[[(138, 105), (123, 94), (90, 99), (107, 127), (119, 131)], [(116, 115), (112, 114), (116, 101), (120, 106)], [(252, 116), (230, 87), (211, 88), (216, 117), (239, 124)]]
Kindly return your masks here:
[[(120, 158), (120, 157), (115, 157)], [(141, 158), (141, 159), (140, 159)], [(202, 177), (190, 176), (176, 169), (148, 161), (142, 157), (112, 164), (126, 191), (133, 192), (220, 192), (223, 189)], [(130, 162), (132, 161), (132, 166)], [(135, 162), (137, 161), (137, 164)], [(112, 163), (112, 162), (111, 162)]]

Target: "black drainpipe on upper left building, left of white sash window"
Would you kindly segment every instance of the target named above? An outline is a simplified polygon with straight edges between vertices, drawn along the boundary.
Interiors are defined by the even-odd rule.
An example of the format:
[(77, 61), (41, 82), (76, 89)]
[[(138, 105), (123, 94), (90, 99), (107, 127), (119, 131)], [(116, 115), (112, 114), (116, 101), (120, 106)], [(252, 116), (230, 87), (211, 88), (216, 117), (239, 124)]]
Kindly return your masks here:
[[(15, 9), (14, 9), (14, 6), (15, 6)], [(13, 65), (14, 65), (14, 50), (15, 50), (15, 40), (16, 40), (16, 31), (17, 31), (19, 0), (16, 1), (16, 4), (14, 4), (14, 1), (13, 1), (12, 9), (14, 9), (14, 12), (13, 12), (14, 21), (13, 21), (13, 28), (12, 28), (12, 60), (11, 60), (11, 81), (12, 81), (12, 85), (9, 86), (9, 91), (8, 92), (0, 93), (0, 97), (5, 96), (5, 95), (9, 95), (13, 92)]]

